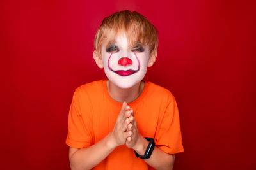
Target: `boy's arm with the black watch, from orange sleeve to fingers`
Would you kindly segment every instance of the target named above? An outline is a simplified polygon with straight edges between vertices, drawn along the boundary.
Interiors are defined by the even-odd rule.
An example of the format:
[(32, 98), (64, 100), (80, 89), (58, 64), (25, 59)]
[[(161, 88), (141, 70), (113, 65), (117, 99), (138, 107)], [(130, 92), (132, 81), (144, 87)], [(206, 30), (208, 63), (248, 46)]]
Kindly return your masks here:
[[(179, 111), (175, 98), (172, 95), (168, 97), (166, 106), (165, 112), (163, 112), (162, 115), (162, 120), (159, 122), (159, 131), (156, 132), (156, 138), (157, 136), (161, 136), (162, 140), (158, 140), (157, 143), (161, 146), (172, 146), (169, 150), (170, 153), (183, 152)], [(149, 142), (138, 132), (135, 120), (132, 124), (132, 129), (129, 129), (129, 131), (132, 131), (132, 136), (127, 138), (126, 145), (135, 150), (139, 155), (144, 155)], [(173, 169), (174, 161), (175, 155), (170, 155), (156, 146), (151, 157), (145, 159), (145, 162), (155, 169)]]

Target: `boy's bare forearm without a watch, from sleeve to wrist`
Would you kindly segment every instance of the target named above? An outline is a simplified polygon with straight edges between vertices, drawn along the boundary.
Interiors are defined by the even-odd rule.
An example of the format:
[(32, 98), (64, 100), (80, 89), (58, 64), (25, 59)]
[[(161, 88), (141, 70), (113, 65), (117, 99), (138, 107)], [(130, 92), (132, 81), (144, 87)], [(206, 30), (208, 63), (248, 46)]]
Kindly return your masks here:
[(111, 134), (88, 148), (76, 150), (70, 154), (72, 170), (92, 169), (115, 149), (111, 143)]

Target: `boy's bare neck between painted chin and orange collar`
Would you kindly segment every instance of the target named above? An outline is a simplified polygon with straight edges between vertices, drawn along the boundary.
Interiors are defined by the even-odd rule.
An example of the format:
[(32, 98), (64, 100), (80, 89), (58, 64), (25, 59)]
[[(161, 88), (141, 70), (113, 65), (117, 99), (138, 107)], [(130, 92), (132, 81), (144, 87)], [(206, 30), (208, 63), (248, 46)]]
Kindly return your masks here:
[(144, 81), (140, 81), (139, 83), (130, 88), (123, 89), (111, 83), (111, 81), (107, 80), (109, 95), (112, 97), (112, 99), (120, 103), (123, 103), (124, 101), (127, 103), (135, 101), (143, 91), (144, 85)]

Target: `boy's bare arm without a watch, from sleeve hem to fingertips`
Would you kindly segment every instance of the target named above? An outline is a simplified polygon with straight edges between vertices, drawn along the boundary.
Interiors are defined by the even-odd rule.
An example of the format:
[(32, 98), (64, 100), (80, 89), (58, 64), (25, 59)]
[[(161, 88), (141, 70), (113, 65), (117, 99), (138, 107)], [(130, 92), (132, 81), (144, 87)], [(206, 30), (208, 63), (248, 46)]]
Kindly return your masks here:
[[(116, 124), (112, 132), (88, 148), (70, 148), (69, 159), (72, 170), (92, 169), (104, 160), (117, 146), (124, 145), (131, 131), (126, 131), (131, 126), (131, 111), (127, 103), (123, 103)], [(130, 120), (131, 119), (131, 120)]]

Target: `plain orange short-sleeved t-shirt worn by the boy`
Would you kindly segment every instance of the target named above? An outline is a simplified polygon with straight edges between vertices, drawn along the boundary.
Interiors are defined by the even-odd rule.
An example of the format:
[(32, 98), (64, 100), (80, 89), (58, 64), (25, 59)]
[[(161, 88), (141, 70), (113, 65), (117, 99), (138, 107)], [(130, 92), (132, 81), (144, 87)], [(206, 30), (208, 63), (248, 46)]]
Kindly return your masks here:
[[(156, 147), (166, 153), (183, 152), (179, 112), (170, 91), (145, 81), (141, 95), (129, 106), (134, 110), (138, 131), (155, 139)], [(103, 139), (115, 126), (122, 103), (109, 96), (106, 80), (81, 85), (74, 92), (68, 117), (66, 143), (86, 148)], [(153, 169), (125, 145), (118, 146), (93, 169)]]

